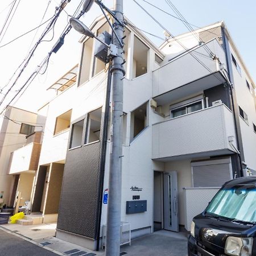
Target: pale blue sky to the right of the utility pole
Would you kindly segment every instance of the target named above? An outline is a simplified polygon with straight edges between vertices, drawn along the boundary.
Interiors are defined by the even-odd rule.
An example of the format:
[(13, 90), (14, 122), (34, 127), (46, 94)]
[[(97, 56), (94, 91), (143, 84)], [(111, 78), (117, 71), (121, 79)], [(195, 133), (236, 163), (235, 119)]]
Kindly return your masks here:
[[(167, 5), (166, 1), (147, 0), (168, 13), (175, 15), (171, 8)], [(125, 11), (128, 18), (131, 19), (139, 28), (143, 28), (148, 32), (152, 32), (158, 36), (163, 36), (162, 28), (160, 28), (152, 19), (148, 18), (146, 14), (133, 2), (133, 0), (125, 0)], [(163, 14), (143, 2), (141, 3), (155, 18), (159, 20), (169, 31), (174, 35), (179, 35), (188, 32), (184, 24), (171, 16)], [(228, 30), (236, 44), (238, 51), (240, 51), (243, 60), (251, 76), (256, 79), (255, 69), (255, 42), (256, 42), (256, 1), (202, 1), (202, 0), (172, 0), (172, 3), (185, 17), (185, 19), (192, 24), (199, 27), (207, 26), (208, 24), (224, 20)], [(160, 41), (151, 37), (156, 44), (159, 45)]]

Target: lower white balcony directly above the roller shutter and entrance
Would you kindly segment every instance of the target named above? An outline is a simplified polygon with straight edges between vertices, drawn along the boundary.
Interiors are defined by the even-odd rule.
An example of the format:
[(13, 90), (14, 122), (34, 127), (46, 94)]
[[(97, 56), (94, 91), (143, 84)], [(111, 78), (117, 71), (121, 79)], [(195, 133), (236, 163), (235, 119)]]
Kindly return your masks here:
[(213, 106), (152, 125), (152, 159), (233, 154), (235, 138), (232, 112), (224, 104)]

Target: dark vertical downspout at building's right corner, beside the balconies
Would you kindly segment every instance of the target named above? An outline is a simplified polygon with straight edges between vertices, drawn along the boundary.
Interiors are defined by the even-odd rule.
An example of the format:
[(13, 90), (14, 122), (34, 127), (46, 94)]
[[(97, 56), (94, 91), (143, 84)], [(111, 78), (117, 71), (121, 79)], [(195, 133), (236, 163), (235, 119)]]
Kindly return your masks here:
[[(225, 47), (225, 56), (226, 56), (226, 63), (227, 63), (227, 66), (228, 66), (228, 76), (229, 76), (229, 81), (233, 81), (233, 79), (231, 79), (231, 76), (230, 76), (230, 60), (229, 60), (229, 57), (228, 57), (228, 51), (227, 49), (229, 49), (229, 46), (226, 42), (226, 35), (225, 35), (225, 31), (224, 31), (224, 28), (221, 27), (221, 32), (222, 32), (222, 39), (223, 39), (223, 42), (224, 42), (224, 47)], [(234, 117), (234, 127), (235, 127), (235, 131), (236, 131), (236, 139), (237, 139), (237, 147), (238, 147), (238, 151), (241, 152), (240, 150), (240, 142), (239, 142), (239, 136), (238, 136), (238, 128), (237, 128), (237, 118), (236, 118), (236, 112), (235, 112), (235, 106), (234, 106), (234, 95), (233, 95), (233, 86), (232, 84), (229, 85), (229, 90), (230, 90), (230, 97), (231, 97), (231, 102), (232, 102), (232, 113), (233, 113), (233, 117)], [(241, 159), (241, 154), (237, 154), (238, 155), (238, 160), (239, 160), (239, 163), (240, 163), (240, 175), (241, 177), (243, 177), (243, 164), (242, 164), (242, 159)]]

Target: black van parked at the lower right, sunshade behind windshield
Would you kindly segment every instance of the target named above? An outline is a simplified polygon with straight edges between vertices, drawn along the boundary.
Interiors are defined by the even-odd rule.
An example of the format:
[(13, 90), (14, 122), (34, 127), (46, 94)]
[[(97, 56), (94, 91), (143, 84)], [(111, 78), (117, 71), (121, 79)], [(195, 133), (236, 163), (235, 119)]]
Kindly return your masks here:
[(195, 218), (188, 256), (256, 256), (256, 177), (226, 182)]

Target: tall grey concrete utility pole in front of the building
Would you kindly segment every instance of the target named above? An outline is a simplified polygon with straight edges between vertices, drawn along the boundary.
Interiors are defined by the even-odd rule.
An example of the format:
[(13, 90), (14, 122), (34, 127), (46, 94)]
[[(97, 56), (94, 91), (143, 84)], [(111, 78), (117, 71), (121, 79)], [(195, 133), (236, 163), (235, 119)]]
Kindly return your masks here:
[[(122, 192), (122, 130), (123, 130), (123, 0), (114, 0), (113, 44), (118, 46), (118, 55), (113, 57), (111, 146), (109, 169), (108, 215), (106, 225), (106, 256), (119, 256), (121, 237), (121, 192)], [(118, 38), (119, 40), (118, 40)]]

